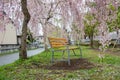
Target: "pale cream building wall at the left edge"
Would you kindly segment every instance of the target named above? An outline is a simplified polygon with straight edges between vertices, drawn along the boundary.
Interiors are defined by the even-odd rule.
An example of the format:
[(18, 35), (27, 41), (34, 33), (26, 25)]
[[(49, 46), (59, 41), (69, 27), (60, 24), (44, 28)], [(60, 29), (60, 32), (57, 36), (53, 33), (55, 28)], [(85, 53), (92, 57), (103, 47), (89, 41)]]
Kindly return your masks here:
[(12, 23), (5, 25), (5, 31), (0, 32), (0, 44), (17, 44), (16, 28)]

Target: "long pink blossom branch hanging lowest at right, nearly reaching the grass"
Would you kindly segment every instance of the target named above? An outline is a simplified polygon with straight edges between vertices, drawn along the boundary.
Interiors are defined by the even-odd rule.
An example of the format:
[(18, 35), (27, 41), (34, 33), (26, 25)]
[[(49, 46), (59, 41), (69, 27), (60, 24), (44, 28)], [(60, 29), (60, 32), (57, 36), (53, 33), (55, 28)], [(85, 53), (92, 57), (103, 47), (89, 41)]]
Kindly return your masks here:
[[(98, 35), (100, 37), (99, 43), (101, 44), (100, 50), (104, 52), (111, 41), (107, 22), (112, 22), (113, 19), (116, 19), (116, 0), (94, 0), (86, 3), (89, 5), (91, 13), (95, 15), (95, 18), (99, 22)], [(111, 8), (111, 5), (114, 9)], [(99, 57), (103, 58), (104, 55), (101, 54)]]

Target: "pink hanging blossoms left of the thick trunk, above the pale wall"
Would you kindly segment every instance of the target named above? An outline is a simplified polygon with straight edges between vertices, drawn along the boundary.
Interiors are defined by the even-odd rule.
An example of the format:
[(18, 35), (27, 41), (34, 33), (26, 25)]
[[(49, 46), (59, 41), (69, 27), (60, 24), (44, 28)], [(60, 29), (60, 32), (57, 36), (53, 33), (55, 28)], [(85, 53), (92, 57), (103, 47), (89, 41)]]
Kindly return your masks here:
[[(4, 12), (9, 17), (17, 32), (21, 33), (23, 14), (21, 12), (21, 0), (3, 0)], [(8, 22), (5, 22), (5, 24)]]

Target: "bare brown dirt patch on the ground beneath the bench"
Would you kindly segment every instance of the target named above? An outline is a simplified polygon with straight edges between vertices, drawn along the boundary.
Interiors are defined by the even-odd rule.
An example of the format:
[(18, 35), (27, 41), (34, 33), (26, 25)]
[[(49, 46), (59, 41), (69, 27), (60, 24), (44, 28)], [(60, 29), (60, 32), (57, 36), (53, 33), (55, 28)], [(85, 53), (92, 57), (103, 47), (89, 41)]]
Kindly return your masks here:
[(71, 59), (71, 65), (69, 66), (67, 62), (61, 61), (52, 64), (51, 66), (47, 66), (46, 68), (49, 70), (79, 70), (79, 69), (91, 69), (95, 67), (95, 65), (89, 62), (88, 59)]

